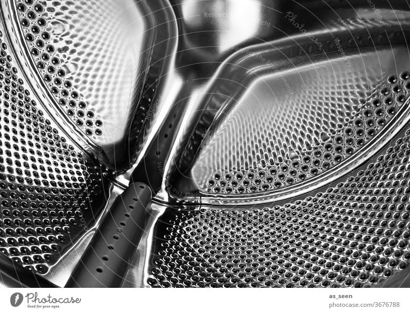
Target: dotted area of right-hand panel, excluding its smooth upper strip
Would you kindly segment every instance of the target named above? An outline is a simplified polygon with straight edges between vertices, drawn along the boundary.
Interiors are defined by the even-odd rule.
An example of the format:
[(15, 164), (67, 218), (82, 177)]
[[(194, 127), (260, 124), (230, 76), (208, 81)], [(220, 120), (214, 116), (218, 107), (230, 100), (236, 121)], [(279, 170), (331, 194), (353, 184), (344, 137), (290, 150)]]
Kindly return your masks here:
[[(354, 64), (351, 62), (349, 66)], [(340, 66), (344, 68), (345, 64), (335, 63), (332, 68), (340, 73)], [(270, 191), (331, 170), (375, 138), (405, 103), (410, 91), (409, 71), (398, 75), (384, 73), (382, 81), (372, 83), (368, 81), (377, 74), (364, 71), (355, 76), (355, 82), (367, 82), (360, 84), (348, 77), (339, 78), (336, 84), (332, 81), (333, 72), (326, 76), (320, 68), (318, 71), (320, 80), (306, 79), (312, 85), (309, 99), (296, 92), (289, 95), (297, 106), (290, 105), (282, 111), (258, 108), (258, 116), (247, 109), (232, 114), (219, 131), (220, 138), (215, 135), (204, 148), (205, 161), (198, 161), (198, 170), (194, 169), (194, 179), (202, 190), (217, 194)], [(245, 123), (250, 119), (255, 120)], [(247, 128), (248, 124), (253, 125), (252, 129)], [(237, 131), (244, 138), (241, 145), (240, 139), (227, 137)], [(220, 147), (223, 143), (228, 146)], [(215, 151), (223, 151), (220, 159), (207, 157), (215, 155)], [(219, 160), (224, 161), (217, 163)], [(218, 170), (210, 177), (212, 169)]]

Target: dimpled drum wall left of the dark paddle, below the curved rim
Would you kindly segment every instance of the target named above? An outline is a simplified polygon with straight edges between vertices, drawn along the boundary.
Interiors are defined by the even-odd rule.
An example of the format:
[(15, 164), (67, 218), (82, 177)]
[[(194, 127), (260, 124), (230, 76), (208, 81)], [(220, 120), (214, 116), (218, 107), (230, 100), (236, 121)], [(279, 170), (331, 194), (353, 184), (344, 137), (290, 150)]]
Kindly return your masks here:
[(32, 100), (2, 37), (0, 252), (44, 274), (93, 222), (103, 180)]

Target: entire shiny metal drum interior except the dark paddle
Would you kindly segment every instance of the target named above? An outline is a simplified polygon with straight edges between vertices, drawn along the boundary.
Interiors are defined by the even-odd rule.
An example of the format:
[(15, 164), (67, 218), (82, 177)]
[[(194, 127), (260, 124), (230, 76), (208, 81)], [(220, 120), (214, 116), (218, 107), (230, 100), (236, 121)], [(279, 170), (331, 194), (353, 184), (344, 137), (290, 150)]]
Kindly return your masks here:
[(143, 182), (125, 287), (403, 284), (410, 7), (375, 3), (1, 0), (1, 251), (63, 286)]

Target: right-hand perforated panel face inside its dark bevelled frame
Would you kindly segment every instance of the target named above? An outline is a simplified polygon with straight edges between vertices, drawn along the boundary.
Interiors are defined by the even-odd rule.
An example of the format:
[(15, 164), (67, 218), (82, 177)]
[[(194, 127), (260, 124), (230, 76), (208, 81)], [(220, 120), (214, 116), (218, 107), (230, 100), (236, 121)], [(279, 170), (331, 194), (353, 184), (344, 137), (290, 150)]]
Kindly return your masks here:
[(200, 189), (256, 193), (336, 170), (383, 132), (407, 99), (409, 73), (396, 74), (391, 49), (315, 61), (261, 79), (227, 113), (193, 167)]

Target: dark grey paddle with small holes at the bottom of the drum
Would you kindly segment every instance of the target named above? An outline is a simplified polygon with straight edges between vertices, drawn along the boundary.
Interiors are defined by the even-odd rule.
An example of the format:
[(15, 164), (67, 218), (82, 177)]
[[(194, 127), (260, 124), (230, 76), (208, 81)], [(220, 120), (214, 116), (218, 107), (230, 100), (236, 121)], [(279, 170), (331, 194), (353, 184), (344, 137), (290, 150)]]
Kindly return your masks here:
[(132, 183), (114, 202), (66, 287), (120, 287), (151, 209), (150, 188)]

